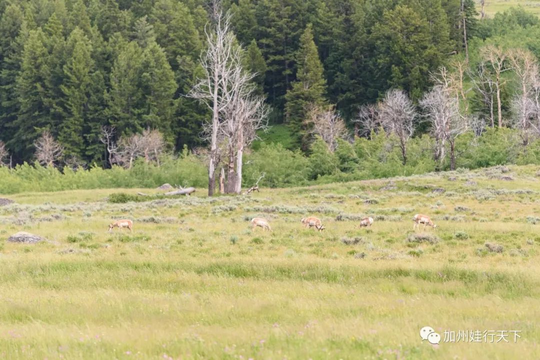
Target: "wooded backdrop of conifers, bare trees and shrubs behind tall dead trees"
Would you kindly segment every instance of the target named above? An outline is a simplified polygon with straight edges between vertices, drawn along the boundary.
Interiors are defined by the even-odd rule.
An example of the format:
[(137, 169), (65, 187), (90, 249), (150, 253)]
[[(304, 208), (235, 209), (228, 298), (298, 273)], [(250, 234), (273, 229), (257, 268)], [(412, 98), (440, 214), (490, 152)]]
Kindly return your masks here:
[[(188, 94), (212, 3), (0, 0), (0, 160), (200, 186), (212, 114)], [(480, 19), (473, 0), (221, 3), (269, 124), (287, 128), (284, 146), (248, 151), (244, 185), (540, 162), (540, 25), (522, 8)], [(8, 191), (45, 170), (32, 171), (6, 172)]]

